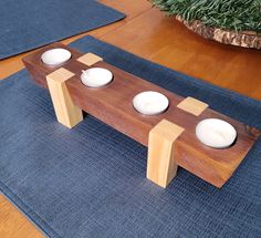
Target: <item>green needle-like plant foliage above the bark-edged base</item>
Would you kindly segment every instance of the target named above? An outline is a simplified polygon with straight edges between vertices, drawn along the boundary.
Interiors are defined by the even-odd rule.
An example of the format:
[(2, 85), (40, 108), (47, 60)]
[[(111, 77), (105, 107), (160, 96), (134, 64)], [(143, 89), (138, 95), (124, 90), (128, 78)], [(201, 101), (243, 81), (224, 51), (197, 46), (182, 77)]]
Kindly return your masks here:
[(234, 31), (261, 33), (261, 0), (150, 0), (169, 15)]

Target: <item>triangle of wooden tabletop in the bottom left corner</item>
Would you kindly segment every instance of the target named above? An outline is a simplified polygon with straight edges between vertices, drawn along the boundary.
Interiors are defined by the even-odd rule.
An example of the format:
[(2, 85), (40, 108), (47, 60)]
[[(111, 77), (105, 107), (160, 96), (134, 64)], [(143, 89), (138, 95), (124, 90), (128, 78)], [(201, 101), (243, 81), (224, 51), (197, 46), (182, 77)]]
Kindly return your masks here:
[(3, 195), (0, 195), (1, 238), (43, 238), (38, 230)]

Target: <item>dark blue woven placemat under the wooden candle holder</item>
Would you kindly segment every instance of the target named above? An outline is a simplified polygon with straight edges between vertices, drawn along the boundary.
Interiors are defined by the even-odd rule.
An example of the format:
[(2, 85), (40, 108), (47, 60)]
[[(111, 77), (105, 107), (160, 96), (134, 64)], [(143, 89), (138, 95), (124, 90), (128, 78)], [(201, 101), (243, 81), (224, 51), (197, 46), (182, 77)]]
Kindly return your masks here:
[[(91, 37), (73, 46), (261, 127), (261, 103), (142, 60)], [(146, 179), (147, 148), (87, 116), (56, 123), (25, 70), (0, 82), (0, 188), (51, 237), (261, 237), (261, 139), (218, 189), (180, 168)]]

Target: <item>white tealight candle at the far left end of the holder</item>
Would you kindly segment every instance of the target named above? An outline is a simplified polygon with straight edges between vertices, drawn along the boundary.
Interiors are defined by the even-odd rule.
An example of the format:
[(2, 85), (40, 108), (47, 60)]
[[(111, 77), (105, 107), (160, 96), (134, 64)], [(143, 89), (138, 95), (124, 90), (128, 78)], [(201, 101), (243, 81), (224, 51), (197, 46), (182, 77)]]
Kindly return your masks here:
[(41, 60), (43, 63), (50, 66), (56, 66), (69, 61), (71, 56), (72, 54), (69, 50), (65, 50), (62, 48), (55, 48), (55, 49), (45, 51), (42, 54)]

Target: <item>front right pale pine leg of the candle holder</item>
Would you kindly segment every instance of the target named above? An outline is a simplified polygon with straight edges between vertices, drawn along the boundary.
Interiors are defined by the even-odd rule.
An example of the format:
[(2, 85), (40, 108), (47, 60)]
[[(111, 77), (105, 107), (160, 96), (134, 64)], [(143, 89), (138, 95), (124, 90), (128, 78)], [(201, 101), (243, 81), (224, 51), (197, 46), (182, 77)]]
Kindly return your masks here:
[(167, 187), (177, 173), (175, 141), (184, 128), (163, 120), (149, 132), (147, 178)]

